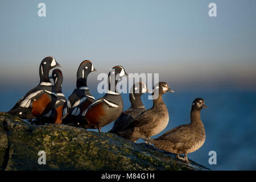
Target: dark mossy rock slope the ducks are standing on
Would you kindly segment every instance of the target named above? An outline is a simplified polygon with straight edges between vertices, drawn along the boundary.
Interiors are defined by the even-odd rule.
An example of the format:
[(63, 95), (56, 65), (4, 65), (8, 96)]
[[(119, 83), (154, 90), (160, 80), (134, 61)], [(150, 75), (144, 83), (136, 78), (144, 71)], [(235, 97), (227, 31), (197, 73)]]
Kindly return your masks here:
[[(39, 151), (46, 164), (39, 164)], [(115, 134), (65, 125), (34, 126), (0, 113), (0, 169), (5, 170), (208, 170), (193, 161)]]

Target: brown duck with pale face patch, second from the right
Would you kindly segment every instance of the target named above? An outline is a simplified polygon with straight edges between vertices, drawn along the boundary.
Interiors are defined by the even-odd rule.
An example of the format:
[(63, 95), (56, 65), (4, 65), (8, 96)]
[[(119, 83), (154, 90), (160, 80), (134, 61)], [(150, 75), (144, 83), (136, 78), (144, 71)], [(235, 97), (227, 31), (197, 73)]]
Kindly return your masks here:
[(123, 131), (117, 134), (127, 140), (136, 142), (139, 138), (150, 138), (163, 131), (169, 122), (169, 114), (166, 105), (162, 100), (162, 95), (171, 90), (166, 82), (159, 82), (154, 87), (152, 96), (153, 106), (144, 111), (130, 122)]

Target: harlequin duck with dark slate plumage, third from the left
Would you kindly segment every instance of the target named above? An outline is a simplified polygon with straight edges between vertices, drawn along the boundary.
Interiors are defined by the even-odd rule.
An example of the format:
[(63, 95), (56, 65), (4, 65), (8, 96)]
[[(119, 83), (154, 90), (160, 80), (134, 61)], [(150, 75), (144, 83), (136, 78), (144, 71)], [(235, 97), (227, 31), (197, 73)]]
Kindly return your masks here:
[(87, 77), (90, 72), (97, 71), (91, 61), (82, 61), (77, 69), (76, 89), (68, 97), (63, 110), (63, 124), (76, 121), (77, 117), (94, 102), (94, 97), (87, 87)]

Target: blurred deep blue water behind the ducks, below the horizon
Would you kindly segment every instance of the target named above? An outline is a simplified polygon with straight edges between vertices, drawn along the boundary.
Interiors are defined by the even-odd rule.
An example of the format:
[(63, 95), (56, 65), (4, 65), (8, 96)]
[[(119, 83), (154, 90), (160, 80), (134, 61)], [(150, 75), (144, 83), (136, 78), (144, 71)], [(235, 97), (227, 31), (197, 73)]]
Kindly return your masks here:
[[(17, 91), (18, 90), (18, 91)], [(21, 98), (26, 90), (0, 91), (0, 110), (7, 111)], [(72, 88), (65, 89), (68, 96)], [(96, 90), (92, 94), (98, 98)], [(122, 94), (124, 110), (130, 106), (128, 94)], [(189, 159), (213, 170), (255, 170), (256, 169), (256, 93), (223, 90), (222, 92), (175, 92), (164, 94), (163, 100), (168, 107), (170, 121), (162, 133), (176, 126), (190, 122), (192, 101), (202, 97), (208, 109), (201, 111), (205, 126), (206, 139), (203, 147), (189, 154)], [(152, 106), (147, 94), (142, 96), (146, 109)], [(113, 123), (102, 128), (109, 131)], [(94, 130), (97, 131), (97, 130)], [(138, 140), (138, 142), (142, 142)], [(209, 151), (217, 152), (217, 165), (208, 163)]]

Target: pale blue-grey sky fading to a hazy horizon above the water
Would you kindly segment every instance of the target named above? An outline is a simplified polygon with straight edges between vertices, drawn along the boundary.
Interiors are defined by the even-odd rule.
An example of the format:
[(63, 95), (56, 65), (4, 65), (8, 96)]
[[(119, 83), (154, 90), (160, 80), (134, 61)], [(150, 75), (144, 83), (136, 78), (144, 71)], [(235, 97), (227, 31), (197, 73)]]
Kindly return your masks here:
[[(46, 3), (46, 17), (38, 4)], [(217, 17), (208, 16), (210, 2)], [(1, 1), (0, 87), (35, 86), (53, 56), (64, 86), (89, 59), (98, 72), (160, 73), (176, 90), (256, 90), (256, 1)]]

